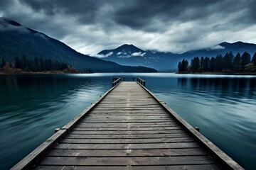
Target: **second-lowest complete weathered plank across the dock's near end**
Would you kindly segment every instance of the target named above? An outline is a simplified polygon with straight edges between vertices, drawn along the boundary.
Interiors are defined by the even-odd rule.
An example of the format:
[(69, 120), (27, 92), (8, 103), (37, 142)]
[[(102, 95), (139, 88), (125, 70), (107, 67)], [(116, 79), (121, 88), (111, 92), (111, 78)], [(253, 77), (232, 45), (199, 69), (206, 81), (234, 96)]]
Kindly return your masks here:
[(188, 149), (52, 149), (48, 157), (177, 157), (202, 156), (201, 148)]

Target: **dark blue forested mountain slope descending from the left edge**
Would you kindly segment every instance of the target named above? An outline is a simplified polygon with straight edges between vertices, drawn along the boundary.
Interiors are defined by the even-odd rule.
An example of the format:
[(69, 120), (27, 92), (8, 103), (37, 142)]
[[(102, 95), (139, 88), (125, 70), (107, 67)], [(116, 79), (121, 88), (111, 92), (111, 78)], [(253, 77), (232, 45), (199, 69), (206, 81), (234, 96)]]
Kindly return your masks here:
[(26, 28), (9, 18), (0, 18), (0, 57), (14, 62), (15, 57), (25, 55), (28, 59), (42, 57), (65, 62), (80, 71), (92, 72), (156, 72), (146, 67), (127, 67), (82, 55), (63, 42), (48, 37), (31, 28)]

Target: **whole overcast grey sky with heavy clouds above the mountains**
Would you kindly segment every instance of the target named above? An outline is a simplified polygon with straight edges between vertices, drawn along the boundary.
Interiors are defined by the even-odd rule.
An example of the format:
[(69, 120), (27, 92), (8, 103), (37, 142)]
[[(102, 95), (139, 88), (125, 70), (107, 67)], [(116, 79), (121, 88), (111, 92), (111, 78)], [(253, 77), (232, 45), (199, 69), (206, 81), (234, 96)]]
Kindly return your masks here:
[(255, 0), (3, 0), (0, 16), (87, 55), (124, 43), (175, 53), (256, 43)]

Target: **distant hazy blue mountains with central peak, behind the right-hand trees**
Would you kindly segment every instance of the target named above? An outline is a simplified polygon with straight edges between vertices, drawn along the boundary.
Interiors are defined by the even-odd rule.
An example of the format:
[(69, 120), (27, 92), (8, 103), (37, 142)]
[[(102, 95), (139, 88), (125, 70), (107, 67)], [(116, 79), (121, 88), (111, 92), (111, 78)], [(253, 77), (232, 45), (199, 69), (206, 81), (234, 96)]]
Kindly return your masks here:
[(178, 62), (183, 59), (189, 62), (193, 57), (216, 57), (216, 55), (225, 55), (226, 52), (233, 52), (236, 55), (238, 52), (248, 52), (254, 55), (256, 45), (246, 42), (221, 42), (213, 47), (208, 47), (201, 50), (191, 50), (183, 54), (174, 54), (172, 52), (158, 52), (152, 50), (142, 50), (134, 45), (121, 45), (113, 50), (103, 50), (97, 54), (98, 58), (106, 61), (117, 62), (123, 65), (152, 67), (159, 71), (176, 70)]

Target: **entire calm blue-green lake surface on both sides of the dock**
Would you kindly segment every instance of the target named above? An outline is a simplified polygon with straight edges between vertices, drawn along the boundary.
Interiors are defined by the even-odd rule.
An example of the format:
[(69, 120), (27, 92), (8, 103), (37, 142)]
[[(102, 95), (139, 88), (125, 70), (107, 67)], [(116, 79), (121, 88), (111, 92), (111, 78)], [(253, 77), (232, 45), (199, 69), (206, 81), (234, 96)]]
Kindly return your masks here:
[(210, 141), (255, 169), (256, 77), (170, 73), (0, 75), (0, 169), (14, 166), (75, 118), (117, 76), (142, 77)]

